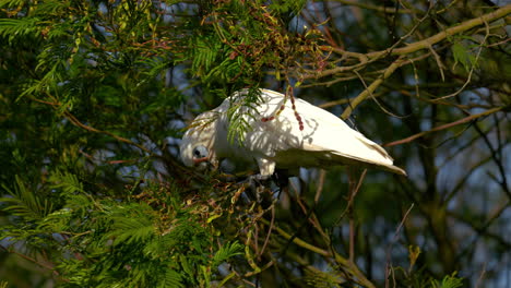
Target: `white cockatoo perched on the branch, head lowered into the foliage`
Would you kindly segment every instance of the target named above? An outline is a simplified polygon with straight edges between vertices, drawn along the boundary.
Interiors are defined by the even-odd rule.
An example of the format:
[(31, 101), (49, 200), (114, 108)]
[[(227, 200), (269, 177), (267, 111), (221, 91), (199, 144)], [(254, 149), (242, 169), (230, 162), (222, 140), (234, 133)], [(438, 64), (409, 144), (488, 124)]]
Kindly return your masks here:
[(286, 100), (285, 95), (270, 89), (260, 89), (259, 101), (251, 107), (239, 105), (238, 112), (250, 129), (242, 141), (228, 141), (227, 110), (248, 93), (239, 91), (195, 118), (180, 145), (185, 165), (217, 168), (227, 158), (237, 167), (257, 165), (259, 179), (268, 179), (276, 168), (336, 165), (376, 167), (406, 176), (381, 146), (338, 117), (302, 99)]

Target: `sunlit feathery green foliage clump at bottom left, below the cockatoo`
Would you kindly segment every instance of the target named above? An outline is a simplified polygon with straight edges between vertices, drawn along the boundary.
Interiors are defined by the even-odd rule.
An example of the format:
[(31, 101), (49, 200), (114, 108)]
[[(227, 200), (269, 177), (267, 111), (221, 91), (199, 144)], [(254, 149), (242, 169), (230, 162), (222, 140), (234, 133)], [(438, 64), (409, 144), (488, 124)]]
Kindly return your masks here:
[[(119, 201), (93, 197), (70, 175), (55, 173), (51, 180), (55, 193), (66, 197), (52, 213), (34, 211), (43, 205), (27, 196), (20, 180), (17, 191), (2, 202), (4, 212), (38, 220), (29, 233), (46, 241), (33, 244), (45, 249), (52, 242), (62, 287), (205, 287), (219, 276), (217, 267), (243, 248), (213, 241), (215, 228), (205, 226), (202, 215), (207, 209), (200, 203), (183, 205), (176, 189), (147, 189), (145, 201)], [(27, 239), (26, 233), (12, 238), (16, 231), (2, 229), (11, 245)]]

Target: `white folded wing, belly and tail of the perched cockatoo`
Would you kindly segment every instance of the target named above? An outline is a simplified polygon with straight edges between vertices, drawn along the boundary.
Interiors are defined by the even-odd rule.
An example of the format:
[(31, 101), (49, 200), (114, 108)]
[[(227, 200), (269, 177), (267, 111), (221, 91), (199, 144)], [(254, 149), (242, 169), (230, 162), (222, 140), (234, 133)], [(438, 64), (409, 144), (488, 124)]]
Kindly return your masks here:
[[(290, 99), (285, 100), (283, 94), (269, 89), (261, 91), (261, 98), (257, 117), (246, 119), (252, 130), (245, 137), (247, 151), (241, 152), (248, 152), (258, 161), (261, 173), (263, 170), (272, 173), (276, 164), (282, 168), (376, 166), (406, 175), (393, 165), (392, 157), (381, 146), (329, 111), (298, 98), (293, 109)], [(253, 113), (245, 109), (248, 110), (242, 112)]]

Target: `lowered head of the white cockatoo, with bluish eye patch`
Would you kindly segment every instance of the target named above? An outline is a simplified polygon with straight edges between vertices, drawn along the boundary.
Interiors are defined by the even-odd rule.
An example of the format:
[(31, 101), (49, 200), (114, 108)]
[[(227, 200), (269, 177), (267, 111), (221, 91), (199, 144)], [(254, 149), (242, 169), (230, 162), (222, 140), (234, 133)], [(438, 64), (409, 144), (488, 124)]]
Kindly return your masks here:
[(217, 167), (215, 142), (215, 119), (212, 112), (205, 112), (195, 118), (181, 140), (179, 151), (182, 163), (188, 167), (204, 170), (210, 165)]

